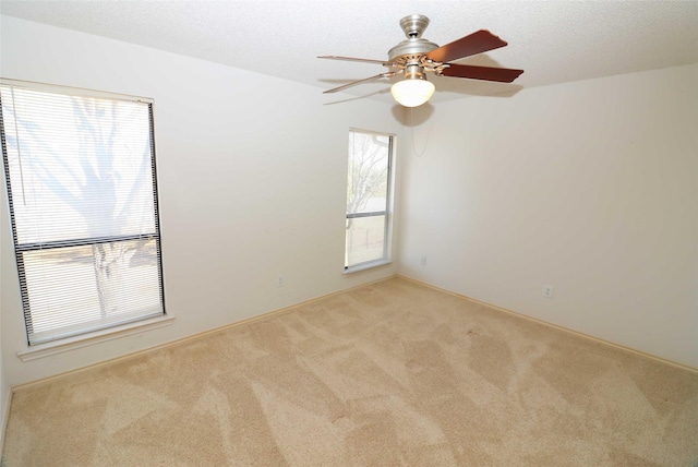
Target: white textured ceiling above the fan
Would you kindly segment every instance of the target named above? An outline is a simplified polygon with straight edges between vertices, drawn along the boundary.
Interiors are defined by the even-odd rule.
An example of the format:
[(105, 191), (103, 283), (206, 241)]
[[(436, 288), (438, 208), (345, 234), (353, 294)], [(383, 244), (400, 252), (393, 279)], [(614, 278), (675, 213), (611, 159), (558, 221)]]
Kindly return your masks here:
[[(524, 69), (513, 84), (434, 77), (434, 100), (698, 62), (698, 1), (123, 1), (1, 0), (0, 13), (285, 77), (318, 92), (378, 74), (405, 39), (399, 20), (425, 14), (444, 45), (490, 29), (508, 46), (462, 63)], [(8, 45), (4, 45), (8, 46)], [(347, 89), (389, 99), (388, 80)], [(327, 103), (346, 95), (326, 96)]]

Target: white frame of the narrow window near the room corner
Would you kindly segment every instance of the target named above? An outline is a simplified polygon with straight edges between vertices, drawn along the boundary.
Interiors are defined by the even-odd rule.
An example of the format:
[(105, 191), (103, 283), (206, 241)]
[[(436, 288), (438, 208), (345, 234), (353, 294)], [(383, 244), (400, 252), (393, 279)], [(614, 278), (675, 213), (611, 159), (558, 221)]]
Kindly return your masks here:
[[(357, 273), (361, 271), (372, 270), (384, 266), (393, 262), (393, 209), (395, 203), (395, 154), (396, 154), (396, 135), (395, 133), (378, 132), (373, 130), (363, 130), (359, 128), (349, 129), (349, 137), (352, 133), (362, 133), (366, 135), (376, 135), (388, 139), (388, 155), (386, 170), (386, 200), (384, 211), (372, 211), (365, 213), (346, 213), (345, 223), (354, 218), (378, 217), (384, 216), (383, 225), (383, 255), (378, 259), (368, 260), (356, 264), (348, 264), (347, 239), (345, 235), (345, 274)], [(347, 163), (350, 161), (351, 154), (348, 154)], [(347, 164), (347, 167), (349, 164)], [(349, 173), (347, 173), (347, 183), (349, 183)], [(348, 187), (346, 187), (348, 188)], [(347, 200), (348, 201), (348, 200)]]

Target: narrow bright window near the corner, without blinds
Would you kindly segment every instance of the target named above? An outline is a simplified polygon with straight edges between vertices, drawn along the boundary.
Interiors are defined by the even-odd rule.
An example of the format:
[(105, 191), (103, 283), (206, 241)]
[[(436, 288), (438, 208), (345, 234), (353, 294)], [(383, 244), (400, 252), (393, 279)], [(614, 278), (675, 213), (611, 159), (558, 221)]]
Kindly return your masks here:
[(345, 270), (389, 261), (393, 135), (349, 131)]

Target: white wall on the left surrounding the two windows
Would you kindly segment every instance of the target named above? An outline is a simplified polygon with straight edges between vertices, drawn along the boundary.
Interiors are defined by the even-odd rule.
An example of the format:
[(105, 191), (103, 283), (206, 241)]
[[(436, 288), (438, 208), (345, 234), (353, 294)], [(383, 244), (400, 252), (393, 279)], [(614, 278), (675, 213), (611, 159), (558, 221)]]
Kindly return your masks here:
[[(165, 328), (29, 362), (2, 194), (2, 349), (17, 384), (395, 274), (344, 274), (350, 127), (400, 132), (392, 107), (2, 17), (2, 76), (155, 99)], [(286, 285), (276, 287), (277, 274)]]

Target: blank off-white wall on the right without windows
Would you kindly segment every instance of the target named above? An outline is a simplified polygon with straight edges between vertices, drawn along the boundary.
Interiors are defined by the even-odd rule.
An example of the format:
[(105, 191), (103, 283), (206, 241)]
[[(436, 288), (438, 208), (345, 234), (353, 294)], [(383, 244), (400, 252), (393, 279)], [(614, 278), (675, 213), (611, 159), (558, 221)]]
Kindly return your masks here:
[(698, 368), (697, 83), (694, 64), (416, 111), (398, 273)]

